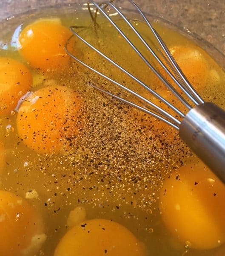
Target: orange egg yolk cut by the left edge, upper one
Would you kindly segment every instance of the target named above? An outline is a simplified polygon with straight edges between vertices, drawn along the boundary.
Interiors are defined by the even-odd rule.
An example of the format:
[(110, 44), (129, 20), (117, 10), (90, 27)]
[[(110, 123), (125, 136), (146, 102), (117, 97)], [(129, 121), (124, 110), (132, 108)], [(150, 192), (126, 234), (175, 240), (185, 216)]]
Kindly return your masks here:
[(32, 75), (26, 66), (12, 58), (0, 57), (0, 116), (16, 108), (31, 84)]

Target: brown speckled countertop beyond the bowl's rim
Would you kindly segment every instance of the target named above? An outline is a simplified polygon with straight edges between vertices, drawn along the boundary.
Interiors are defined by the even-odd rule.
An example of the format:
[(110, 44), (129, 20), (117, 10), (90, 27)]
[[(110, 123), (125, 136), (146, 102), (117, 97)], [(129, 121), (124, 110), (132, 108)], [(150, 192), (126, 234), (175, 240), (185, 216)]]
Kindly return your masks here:
[[(123, 2), (125, 2), (124, 0)], [(8, 16), (58, 3), (86, 0), (0, 0), (0, 20)], [(195, 32), (225, 54), (225, 0), (137, 0), (148, 13)]]

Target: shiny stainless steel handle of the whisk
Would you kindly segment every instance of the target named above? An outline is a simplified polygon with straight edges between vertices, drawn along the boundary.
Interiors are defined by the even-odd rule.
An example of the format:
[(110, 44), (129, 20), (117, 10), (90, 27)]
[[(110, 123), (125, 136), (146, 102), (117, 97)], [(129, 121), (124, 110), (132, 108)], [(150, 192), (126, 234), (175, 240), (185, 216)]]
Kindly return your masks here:
[(225, 111), (206, 102), (191, 109), (180, 138), (225, 183)]

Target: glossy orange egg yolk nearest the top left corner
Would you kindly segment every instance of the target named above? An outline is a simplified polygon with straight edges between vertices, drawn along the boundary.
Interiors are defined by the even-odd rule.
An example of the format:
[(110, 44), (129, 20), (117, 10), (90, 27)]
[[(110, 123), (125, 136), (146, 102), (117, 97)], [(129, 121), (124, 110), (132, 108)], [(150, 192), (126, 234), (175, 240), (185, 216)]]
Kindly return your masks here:
[(55, 20), (37, 20), (20, 33), (20, 54), (36, 69), (59, 71), (68, 67), (64, 50), (71, 31)]

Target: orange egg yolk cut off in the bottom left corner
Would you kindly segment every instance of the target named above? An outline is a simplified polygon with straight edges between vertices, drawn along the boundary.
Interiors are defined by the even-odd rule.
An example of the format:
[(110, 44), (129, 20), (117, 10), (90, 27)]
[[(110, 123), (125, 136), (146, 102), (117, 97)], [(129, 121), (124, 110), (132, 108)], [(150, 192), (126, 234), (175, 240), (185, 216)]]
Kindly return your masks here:
[(0, 255), (33, 256), (45, 241), (43, 223), (28, 202), (0, 191)]

